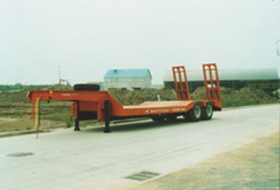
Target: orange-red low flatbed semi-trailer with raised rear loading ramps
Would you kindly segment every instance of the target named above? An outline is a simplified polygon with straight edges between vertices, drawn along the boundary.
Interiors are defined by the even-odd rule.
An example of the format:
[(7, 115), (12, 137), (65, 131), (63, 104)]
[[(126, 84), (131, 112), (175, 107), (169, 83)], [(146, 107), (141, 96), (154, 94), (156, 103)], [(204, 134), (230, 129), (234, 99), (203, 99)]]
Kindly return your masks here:
[[(205, 101), (190, 100), (188, 80), (183, 66), (173, 68), (178, 101), (146, 101), (140, 105), (124, 106), (108, 92), (100, 92), (98, 88), (90, 90), (88, 88), (90, 85), (76, 85), (74, 90), (28, 92), (27, 100), (33, 102), (32, 110), (34, 110), (34, 102), (37, 98), (40, 101), (72, 101), (71, 113), (76, 119), (76, 131), (80, 130), (78, 122), (85, 119), (104, 121), (104, 132), (106, 133), (110, 132), (109, 122), (116, 119), (151, 117), (155, 121), (160, 121), (176, 119), (179, 115), (183, 115), (186, 119), (197, 122), (200, 119), (211, 119), (213, 110), (221, 110), (222, 108), (216, 64), (204, 64), (203, 69), (207, 92), (207, 100)], [(210, 77), (210, 80), (207, 80), (207, 76)]]

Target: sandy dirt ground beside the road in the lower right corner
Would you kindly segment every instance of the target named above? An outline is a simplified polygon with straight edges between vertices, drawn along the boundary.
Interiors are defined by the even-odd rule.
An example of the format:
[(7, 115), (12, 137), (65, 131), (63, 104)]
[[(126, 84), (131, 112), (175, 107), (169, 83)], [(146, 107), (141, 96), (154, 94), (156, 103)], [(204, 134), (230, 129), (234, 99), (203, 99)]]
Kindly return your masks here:
[(279, 189), (279, 143), (279, 133), (274, 133), (239, 149), (218, 154), (195, 168), (186, 168), (129, 189)]

